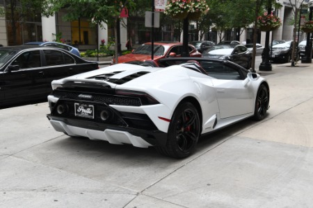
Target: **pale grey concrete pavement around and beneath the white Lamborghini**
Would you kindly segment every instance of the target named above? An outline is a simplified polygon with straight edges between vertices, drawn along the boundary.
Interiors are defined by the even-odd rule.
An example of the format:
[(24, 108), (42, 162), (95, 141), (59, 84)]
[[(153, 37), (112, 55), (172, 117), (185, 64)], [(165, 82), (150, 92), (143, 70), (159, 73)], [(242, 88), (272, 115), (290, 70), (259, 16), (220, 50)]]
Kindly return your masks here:
[(70, 138), (47, 103), (0, 110), (0, 207), (312, 207), (313, 64), (257, 72), (266, 119), (202, 137), (180, 160)]

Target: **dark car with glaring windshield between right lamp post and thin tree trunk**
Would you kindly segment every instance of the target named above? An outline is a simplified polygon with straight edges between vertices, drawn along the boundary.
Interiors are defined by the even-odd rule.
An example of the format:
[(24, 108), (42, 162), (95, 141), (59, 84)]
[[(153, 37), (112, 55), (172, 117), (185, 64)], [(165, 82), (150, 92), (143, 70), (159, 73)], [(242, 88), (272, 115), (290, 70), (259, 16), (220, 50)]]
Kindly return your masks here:
[[(282, 44), (271, 46), (270, 60), (273, 62), (290, 62), (293, 44), (294, 41), (290, 40)], [(297, 51), (294, 53), (294, 59), (299, 60)]]

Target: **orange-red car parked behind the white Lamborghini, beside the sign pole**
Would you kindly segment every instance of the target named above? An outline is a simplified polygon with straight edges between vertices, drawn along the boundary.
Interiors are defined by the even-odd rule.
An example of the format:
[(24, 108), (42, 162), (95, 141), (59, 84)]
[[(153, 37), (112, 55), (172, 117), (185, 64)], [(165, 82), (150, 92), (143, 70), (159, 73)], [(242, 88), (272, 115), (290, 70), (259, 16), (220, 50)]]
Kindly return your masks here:
[[(151, 60), (151, 48), (151, 42), (142, 44), (131, 53), (119, 56), (118, 62), (124, 63)], [(195, 46), (189, 44), (188, 49), (191, 57), (201, 57), (201, 53), (195, 49)], [(182, 57), (182, 51), (183, 45), (180, 42), (154, 42), (154, 60), (166, 57)]]

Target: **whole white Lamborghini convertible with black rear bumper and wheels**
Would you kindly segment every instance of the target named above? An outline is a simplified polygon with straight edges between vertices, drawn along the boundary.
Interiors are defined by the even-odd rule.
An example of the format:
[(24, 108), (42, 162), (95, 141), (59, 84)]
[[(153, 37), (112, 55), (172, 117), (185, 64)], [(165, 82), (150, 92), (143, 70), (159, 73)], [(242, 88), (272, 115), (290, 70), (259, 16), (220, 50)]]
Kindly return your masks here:
[(72, 137), (155, 146), (163, 155), (184, 158), (200, 135), (266, 116), (269, 87), (257, 73), (208, 58), (157, 64), (115, 64), (54, 80), (51, 125)]

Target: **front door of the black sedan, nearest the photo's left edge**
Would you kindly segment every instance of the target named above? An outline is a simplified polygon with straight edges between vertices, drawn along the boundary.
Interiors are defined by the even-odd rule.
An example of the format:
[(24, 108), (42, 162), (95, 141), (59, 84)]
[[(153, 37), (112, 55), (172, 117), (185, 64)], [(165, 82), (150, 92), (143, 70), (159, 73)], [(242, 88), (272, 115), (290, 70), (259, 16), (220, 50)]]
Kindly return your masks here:
[(35, 67), (35, 63), (32, 62), (32, 57), (38, 54), (39, 51), (21, 53), (1, 72), (1, 91), (3, 92), (5, 103), (29, 101), (42, 91), (38, 84), (42, 82), (43, 75), (40, 69), (38, 69), (40, 67)]

